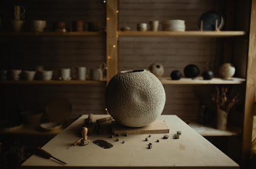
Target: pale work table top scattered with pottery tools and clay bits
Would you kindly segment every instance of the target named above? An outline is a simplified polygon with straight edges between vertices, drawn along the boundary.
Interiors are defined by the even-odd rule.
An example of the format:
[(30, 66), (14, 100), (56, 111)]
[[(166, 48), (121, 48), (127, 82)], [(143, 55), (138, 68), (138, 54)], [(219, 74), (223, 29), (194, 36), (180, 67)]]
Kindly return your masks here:
[[(222, 153), (203, 136), (189, 127), (175, 115), (162, 115), (170, 129), (169, 138), (163, 139), (163, 134), (130, 134), (128, 136), (111, 135), (111, 122), (102, 123), (102, 134), (90, 135), (91, 143), (87, 146), (73, 146), (67, 149), (80, 137), (81, 126), (88, 115), (83, 115), (65, 130), (56, 135), (42, 149), (54, 157), (65, 161), (71, 168), (103, 168), (103, 167), (144, 167), (144, 168), (239, 168), (239, 165)], [(95, 121), (109, 115), (94, 115)], [(179, 139), (173, 136), (181, 131)], [(148, 142), (145, 142), (145, 138)], [(119, 142), (115, 142), (119, 138)], [(104, 139), (114, 145), (111, 149), (103, 149), (92, 142)], [(156, 140), (160, 142), (157, 143)], [(123, 140), (125, 141), (122, 144)], [(148, 143), (153, 148), (148, 149)], [(62, 167), (64, 165), (33, 155), (22, 164), (22, 168)]]

